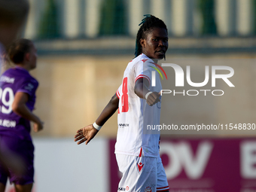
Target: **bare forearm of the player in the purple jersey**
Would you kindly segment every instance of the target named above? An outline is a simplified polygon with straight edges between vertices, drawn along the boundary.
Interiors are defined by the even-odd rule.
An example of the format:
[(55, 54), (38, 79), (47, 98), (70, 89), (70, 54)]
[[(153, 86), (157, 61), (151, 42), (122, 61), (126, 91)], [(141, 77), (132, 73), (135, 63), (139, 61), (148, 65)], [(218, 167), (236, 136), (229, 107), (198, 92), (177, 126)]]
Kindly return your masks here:
[(14, 113), (20, 115), (20, 117), (23, 117), (27, 120), (32, 120), (34, 123), (40, 123), (40, 119), (29, 110), (26, 104), (14, 103), (14, 105), (12, 105), (12, 109)]

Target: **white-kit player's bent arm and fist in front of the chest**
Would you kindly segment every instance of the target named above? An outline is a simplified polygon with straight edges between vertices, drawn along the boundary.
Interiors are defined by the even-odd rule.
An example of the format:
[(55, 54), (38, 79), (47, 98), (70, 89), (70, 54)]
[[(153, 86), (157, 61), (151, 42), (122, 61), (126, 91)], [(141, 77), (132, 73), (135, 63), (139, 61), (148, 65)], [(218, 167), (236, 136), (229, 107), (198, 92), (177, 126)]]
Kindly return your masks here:
[(145, 81), (145, 78), (139, 78), (135, 83), (134, 92), (139, 96), (139, 98), (146, 99), (148, 105), (152, 106), (157, 102), (160, 102), (160, 93), (151, 92), (148, 87), (149, 82)]

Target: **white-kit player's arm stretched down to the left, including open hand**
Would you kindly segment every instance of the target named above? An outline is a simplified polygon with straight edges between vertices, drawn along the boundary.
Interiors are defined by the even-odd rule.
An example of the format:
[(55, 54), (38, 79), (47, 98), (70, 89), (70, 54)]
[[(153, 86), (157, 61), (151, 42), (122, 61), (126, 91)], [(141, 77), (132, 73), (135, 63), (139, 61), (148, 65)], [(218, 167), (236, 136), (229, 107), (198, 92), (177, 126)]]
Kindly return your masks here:
[[(112, 96), (111, 100), (108, 102), (108, 105), (106, 105), (102, 113), (99, 114), (99, 117), (96, 119), (95, 123), (98, 126), (103, 126), (104, 123), (114, 114), (114, 112), (117, 111), (118, 103), (119, 99), (117, 94), (114, 94), (114, 96)], [(98, 132), (99, 130), (96, 130), (93, 124), (85, 126), (77, 131), (77, 134), (75, 135), (75, 142), (78, 142), (78, 145), (85, 142), (87, 145), (87, 143), (90, 142), (90, 140), (92, 140)]]

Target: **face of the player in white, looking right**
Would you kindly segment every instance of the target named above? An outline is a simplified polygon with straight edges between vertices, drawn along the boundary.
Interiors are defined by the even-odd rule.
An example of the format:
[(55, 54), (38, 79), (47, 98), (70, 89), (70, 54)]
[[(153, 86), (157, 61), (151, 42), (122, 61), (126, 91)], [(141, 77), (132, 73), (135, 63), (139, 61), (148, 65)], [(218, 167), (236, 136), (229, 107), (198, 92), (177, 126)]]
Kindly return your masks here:
[(151, 59), (163, 59), (168, 49), (168, 34), (166, 29), (153, 28), (146, 39), (141, 39), (142, 53)]

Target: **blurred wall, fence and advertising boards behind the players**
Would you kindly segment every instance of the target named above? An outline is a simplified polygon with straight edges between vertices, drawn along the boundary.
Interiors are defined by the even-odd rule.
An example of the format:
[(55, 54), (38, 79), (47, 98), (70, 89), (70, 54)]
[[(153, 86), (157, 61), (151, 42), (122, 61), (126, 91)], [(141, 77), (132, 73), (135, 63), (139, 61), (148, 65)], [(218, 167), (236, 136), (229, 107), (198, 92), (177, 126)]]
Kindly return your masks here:
[[(29, 3), (22, 36), (32, 39), (38, 49), (38, 66), (32, 72), (40, 83), (35, 114), (44, 120), (44, 130), (32, 133), (34, 192), (117, 190), (120, 174), (113, 157), (117, 114), (90, 145), (77, 146), (73, 136), (96, 120), (120, 86), (134, 57), (144, 14), (166, 23), (166, 58), (183, 69), (196, 66), (194, 76), (203, 77), (198, 82), (204, 79), (206, 65), (235, 69), (233, 82), (239, 88), (222, 87), (227, 93), (222, 100), (193, 101), (190, 106), (184, 105), (191, 103), (189, 99), (175, 101), (170, 117), (174, 123), (178, 118), (179, 123), (189, 124), (196, 106), (204, 106), (197, 116), (204, 123), (236, 123), (236, 117), (243, 121), (237, 123), (256, 123), (256, 0)], [(161, 155), (170, 191), (256, 191), (255, 135), (254, 131), (235, 136), (229, 131), (163, 135)]]

